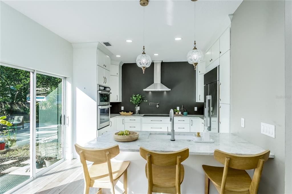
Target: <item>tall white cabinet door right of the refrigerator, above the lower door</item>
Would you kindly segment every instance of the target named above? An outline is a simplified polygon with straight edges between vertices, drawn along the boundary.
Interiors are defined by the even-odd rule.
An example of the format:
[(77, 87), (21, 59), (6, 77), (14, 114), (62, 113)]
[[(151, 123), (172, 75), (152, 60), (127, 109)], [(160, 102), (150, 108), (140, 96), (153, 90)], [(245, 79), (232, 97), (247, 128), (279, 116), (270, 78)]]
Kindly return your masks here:
[(230, 50), (220, 57), (219, 103), (230, 104)]

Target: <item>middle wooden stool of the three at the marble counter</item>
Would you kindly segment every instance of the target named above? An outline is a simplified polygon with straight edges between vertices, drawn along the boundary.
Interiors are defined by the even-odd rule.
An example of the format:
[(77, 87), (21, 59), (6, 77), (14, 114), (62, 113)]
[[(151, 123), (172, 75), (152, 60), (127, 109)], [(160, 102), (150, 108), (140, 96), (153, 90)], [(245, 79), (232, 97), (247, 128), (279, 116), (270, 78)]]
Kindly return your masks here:
[(147, 160), (145, 173), (148, 179), (148, 194), (180, 194), (180, 184), (185, 174), (181, 162), (189, 157), (188, 148), (175, 152), (154, 152), (140, 147), (140, 155)]

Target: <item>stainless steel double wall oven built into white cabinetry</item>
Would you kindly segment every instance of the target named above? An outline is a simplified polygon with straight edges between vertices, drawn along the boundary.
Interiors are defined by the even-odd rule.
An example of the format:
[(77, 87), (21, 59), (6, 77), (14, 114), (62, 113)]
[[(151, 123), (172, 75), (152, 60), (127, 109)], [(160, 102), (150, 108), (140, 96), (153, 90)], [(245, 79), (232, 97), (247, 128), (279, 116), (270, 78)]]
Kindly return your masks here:
[(98, 130), (109, 126), (110, 123), (110, 88), (102, 85), (98, 85), (98, 103), (97, 103), (97, 127)]

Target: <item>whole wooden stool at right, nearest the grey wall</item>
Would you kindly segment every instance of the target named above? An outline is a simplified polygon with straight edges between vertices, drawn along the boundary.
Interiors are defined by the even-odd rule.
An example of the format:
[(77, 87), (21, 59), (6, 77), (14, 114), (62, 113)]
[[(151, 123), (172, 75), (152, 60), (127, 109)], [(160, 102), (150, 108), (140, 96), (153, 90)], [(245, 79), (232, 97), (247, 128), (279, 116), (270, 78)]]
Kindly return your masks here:
[[(205, 194), (209, 193), (210, 180), (220, 194), (256, 194), (264, 162), (270, 150), (255, 155), (236, 155), (215, 149), (214, 158), (224, 167), (202, 165), (205, 171)], [(255, 169), (253, 179), (245, 170)]]

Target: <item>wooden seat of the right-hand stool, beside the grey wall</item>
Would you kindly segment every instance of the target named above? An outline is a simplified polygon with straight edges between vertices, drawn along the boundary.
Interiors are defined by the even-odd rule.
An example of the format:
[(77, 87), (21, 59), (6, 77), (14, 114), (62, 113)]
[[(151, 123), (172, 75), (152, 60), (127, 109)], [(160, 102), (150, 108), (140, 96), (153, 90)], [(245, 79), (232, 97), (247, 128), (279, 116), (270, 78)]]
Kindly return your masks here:
[[(208, 178), (213, 182), (216, 188), (221, 188), (224, 167), (203, 165)], [(240, 178), (238, 178), (240, 177)], [(251, 186), (251, 177), (245, 170), (228, 169), (227, 179), (225, 184), (226, 191), (244, 192)]]

